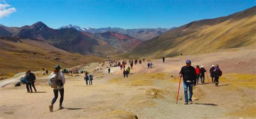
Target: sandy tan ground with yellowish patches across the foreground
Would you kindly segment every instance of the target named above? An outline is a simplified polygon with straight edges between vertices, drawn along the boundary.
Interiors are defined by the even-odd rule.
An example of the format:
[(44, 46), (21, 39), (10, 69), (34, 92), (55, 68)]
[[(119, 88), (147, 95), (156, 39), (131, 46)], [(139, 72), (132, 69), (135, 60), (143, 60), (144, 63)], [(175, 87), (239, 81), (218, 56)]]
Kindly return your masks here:
[[(157, 59), (151, 69), (147, 62), (135, 65), (129, 78), (123, 78), (120, 68), (111, 68), (110, 74), (103, 68), (94, 73), (92, 86), (85, 86), (82, 74), (65, 75), (65, 109), (58, 110), (58, 99), (53, 113), (48, 108), (53, 91), (43, 76), (37, 79), (42, 85), (36, 85), (37, 93), (26, 93), (23, 85), (0, 88), (0, 118), (256, 118), (255, 58), (255, 48), (249, 47), (167, 58), (165, 64)], [(224, 74), (219, 87), (193, 87), (193, 104), (183, 104), (181, 83), (176, 104), (178, 72), (187, 59), (193, 66), (204, 65), (207, 72), (219, 64)], [(97, 68), (102, 67), (86, 66)]]

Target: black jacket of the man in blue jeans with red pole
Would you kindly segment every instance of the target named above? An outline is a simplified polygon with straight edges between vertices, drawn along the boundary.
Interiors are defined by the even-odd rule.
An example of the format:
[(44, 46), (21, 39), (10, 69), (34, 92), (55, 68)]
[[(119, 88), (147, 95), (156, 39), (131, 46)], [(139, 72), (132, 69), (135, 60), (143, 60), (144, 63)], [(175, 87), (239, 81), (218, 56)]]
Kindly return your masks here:
[(196, 84), (197, 73), (193, 66), (183, 66), (180, 70), (180, 74), (183, 75), (184, 82), (191, 81), (192, 83)]

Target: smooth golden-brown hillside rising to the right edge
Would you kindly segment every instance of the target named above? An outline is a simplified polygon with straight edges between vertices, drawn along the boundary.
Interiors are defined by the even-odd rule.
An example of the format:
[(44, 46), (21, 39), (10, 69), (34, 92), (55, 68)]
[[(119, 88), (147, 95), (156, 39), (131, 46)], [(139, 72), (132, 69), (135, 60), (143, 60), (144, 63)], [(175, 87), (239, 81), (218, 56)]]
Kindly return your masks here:
[(174, 57), (255, 45), (256, 6), (225, 17), (185, 24), (144, 41), (122, 57)]

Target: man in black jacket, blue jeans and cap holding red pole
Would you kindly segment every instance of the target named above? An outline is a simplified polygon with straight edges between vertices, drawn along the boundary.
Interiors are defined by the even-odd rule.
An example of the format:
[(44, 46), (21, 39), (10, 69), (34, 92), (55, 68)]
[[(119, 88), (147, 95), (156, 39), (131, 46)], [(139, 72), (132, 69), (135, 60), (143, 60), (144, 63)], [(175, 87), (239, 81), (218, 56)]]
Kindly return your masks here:
[[(196, 86), (196, 69), (191, 66), (191, 61), (186, 61), (186, 66), (183, 66), (179, 73), (180, 78), (183, 77), (183, 87), (184, 87), (184, 95), (185, 95), (185, 103), (192, 104), (192, 95), (193, 95), (193, 85)], [(189, 97), (187, 97), (187, 88), (190, 92)]]

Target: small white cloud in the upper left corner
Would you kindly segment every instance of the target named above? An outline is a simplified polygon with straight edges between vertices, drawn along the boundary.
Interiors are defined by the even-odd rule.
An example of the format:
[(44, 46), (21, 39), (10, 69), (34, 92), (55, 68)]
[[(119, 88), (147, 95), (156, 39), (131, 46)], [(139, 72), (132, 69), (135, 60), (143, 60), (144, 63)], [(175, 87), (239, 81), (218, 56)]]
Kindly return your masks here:
[(0, 4), (0, 19), (8, 17), (11, 13), (16, 12), (15, 8), (10, 8), (9, 4)]

